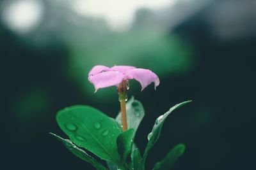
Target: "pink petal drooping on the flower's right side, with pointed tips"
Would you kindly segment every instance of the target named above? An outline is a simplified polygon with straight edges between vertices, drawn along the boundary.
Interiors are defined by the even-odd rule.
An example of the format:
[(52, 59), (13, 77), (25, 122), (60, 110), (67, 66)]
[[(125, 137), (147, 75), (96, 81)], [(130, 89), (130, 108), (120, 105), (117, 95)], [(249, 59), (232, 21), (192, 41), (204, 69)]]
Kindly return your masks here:
[(141, 84), (141, 91), (152, 82), (155, 83), (155, 89), (160, 83), (158, 76), (149, 69), (131, 69), (127, 71), (125, 78), (128, 80), (135, 79), (139, 81)]

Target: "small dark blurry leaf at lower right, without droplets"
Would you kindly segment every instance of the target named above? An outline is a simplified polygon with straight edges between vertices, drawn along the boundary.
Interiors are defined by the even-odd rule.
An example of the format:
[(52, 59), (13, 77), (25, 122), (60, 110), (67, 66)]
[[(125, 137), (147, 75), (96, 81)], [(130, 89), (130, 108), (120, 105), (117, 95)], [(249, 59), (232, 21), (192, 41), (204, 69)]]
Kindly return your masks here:
[(174, 146), (172, 150), (164, 157), (161, 162), (157, 162), (153, 170), (166, 170), (171, 169), (173, 164), (179, 159), (179, 157), (184, 153), (185, 145), (179, 143)]

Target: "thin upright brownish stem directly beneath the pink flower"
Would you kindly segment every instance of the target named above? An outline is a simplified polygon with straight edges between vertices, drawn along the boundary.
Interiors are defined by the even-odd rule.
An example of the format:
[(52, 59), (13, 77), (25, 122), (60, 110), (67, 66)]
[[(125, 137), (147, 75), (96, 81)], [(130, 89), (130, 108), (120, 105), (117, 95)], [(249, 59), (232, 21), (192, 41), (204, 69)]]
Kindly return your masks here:
[(120, 107), (121, 107), (121, 120), (122, 120), (122, 130), (127, 130), (127, 116), (126, 116), (126, 91), (127, 91), (127, 81), (122, 81), (118, 85), (118, 95), (119, 95), (119, 101), (120, 101)]

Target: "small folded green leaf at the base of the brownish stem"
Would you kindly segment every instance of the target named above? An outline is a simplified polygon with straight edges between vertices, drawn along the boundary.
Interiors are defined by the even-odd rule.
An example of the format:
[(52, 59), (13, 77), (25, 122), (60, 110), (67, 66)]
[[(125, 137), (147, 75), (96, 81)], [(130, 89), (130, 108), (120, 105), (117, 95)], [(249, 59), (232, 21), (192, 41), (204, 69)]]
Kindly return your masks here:
[(124, 163), (129, 155), (131, 155), (132, 144), (133, 144), (134, 129), (129, 129), (122, 132), (117, 140), (117, 150), (121, 157), (121, 162)]

